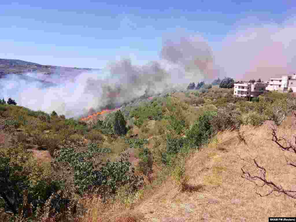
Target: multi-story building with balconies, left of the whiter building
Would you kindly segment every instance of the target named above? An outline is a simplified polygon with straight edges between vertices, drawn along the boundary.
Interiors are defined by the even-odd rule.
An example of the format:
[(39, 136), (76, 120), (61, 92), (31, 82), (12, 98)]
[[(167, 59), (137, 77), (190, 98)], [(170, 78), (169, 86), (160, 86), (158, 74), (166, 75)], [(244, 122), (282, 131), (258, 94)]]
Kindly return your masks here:
[(235, 83), (234, 84), (234, 97), (256, 97), (263, 94), (266, 90), (266, 83)]

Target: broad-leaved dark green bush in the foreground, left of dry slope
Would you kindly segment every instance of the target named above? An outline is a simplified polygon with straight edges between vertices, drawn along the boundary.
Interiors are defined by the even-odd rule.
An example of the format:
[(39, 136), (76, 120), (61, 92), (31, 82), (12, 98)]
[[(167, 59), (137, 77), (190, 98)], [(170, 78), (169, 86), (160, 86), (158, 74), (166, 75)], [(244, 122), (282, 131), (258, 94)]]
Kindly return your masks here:
[(72, 147), (62, 149), (57, 158), (59, 162), (71, 166), (74, 174), (74, 185), (78, 194), (90, 191), (92, 188), (104, 198), (116, 194), (116, 191), (125, 184), (130, 185), (131, 191), (136, 190), (143, 180), (135, 176), (134, 168), (128, 162), (128, 157), (122, 155), (120, 160), (106, 163), (95, 163), (94, 157), (98, 156), (97, 147), (89, 145), (87, 151), (77, 151)]

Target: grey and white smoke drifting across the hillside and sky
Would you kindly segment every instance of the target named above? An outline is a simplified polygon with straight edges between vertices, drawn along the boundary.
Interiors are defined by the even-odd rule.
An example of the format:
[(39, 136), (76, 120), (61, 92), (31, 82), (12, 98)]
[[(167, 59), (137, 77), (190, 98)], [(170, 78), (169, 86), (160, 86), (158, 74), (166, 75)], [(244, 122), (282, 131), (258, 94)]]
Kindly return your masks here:
[[(51, 75), (46, 87), (17, 75), (1, 79), (0, 96), (19, 105), (67, 117), (86, 114), (106, 106), (118, 106), (141, 96), (145, 90), (158, 93), (168, 87), (186, 87), (192, 81), (211, 81), (228, 76), (236, 80), (268, 80), (296, 70), (295, 19), (278, 24), (238, 28), (212, 48), (201, 35), (182, 33), (165, 38), (160, 59), (144, 66), (130, 59), (108, 64), (103, 70), (86, 71), (64, 78)], [(217, 46), (217, 44), (215, 45)], [(38, 77), (28, 73), (30, 77)], [(38, 78), (41, 78), (40, 76)]]

